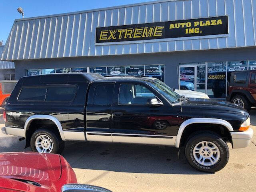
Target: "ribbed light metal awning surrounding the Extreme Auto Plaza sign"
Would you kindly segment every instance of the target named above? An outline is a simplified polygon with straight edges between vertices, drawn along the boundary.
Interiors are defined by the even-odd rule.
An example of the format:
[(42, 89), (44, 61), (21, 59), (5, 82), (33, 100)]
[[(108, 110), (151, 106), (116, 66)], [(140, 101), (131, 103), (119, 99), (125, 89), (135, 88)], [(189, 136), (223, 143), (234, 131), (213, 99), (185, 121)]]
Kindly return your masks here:
[[(1, 60), (256, 46), (254, 1), (158, 0), (14, 21)], [(228, 34), (97, 44), (96, 28), (228, 16)], [(182, 22), (182, 21), (181, 21)], [(193, 30), (194, 31), (194, 30)]]

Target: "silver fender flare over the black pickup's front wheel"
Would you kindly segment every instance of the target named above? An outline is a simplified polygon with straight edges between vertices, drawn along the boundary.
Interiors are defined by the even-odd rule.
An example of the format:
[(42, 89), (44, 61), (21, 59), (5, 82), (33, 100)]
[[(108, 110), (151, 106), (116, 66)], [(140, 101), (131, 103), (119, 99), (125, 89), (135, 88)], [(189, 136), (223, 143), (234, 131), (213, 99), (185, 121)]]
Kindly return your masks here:
[(223, 119), (216, 119), (216, 118), (191, 118), (191, 119), (188, 119), (188, 120), (184, 121), (180, 125), (180, 128), (178, 130), (178, 134), (177, 134), (177, 137), (176, 137), (176, 141), (175, 141), (175, 147), (176, 148), (180, 147), (181, 136), (182, 136), (182, 133), (185, 130), (185, 128), (188, 125), (194, 124), (194, 123), (220, 124), (220, 125), (223, 125), (224, 127), (226, 127), (229, 131), (234, 131), (232, 125), (229, 122), (227, 122), (226, 120), (223, 120)]

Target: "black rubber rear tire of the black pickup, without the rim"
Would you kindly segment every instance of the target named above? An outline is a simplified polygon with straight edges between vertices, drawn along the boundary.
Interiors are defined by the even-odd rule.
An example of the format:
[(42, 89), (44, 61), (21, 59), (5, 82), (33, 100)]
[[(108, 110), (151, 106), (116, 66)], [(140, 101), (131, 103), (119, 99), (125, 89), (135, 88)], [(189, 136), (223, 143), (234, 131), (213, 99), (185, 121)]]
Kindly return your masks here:
[(58, 134), (46, 129), (46, 128), (40, 128), (36, 130), (31, 138), (30, 138), (30, 146), (32, 151), (38, 152), (36, 149), (36, 138), (38, 138), (40, 135), (46, 135), (52, 140), (52, 151), (50, 153), (56, 153), (61, 154), (61, 152), (64, 149), (64, 141), (58, 136)]

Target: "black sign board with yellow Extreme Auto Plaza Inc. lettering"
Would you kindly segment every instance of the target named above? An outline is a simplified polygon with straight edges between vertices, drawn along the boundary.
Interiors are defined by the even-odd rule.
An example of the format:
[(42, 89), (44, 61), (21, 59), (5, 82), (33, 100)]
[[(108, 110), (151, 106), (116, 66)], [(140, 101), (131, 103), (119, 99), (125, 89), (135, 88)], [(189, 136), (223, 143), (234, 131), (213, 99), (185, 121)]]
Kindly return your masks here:
[(228, 34), (228, 16), (96, 28), (96, 43)]

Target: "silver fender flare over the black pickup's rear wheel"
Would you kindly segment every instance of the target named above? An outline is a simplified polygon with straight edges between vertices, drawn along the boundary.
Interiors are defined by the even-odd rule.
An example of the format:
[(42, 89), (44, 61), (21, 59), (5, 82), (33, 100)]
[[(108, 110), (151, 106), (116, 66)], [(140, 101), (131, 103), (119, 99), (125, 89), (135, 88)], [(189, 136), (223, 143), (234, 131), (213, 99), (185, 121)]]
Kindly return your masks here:
[(53, 117), (53, 116), (50, 116), (50, 115), (32, 115), (30, 116), (26, 122), (25, 122), (25, 125), (24, 125), (24, 137), (26, 138), (26, 131), (28, 129), (28, 127), (30, 126), (30, 123), (32, 122), (32, 120), (34, 119), (48, 119), (48, 120), (51, 120), (52, 122), (54, 122), (54, 124), (56, 124), (58, 130), (59, 130), (59, 133), (60, 133), (60, 137), (63, 141), (65, 141), (65, 136), (64, 136), (64, 133), (63, 133), (63, 129), (62, 129), (62, 126), (60, 124), (60, 121)]

